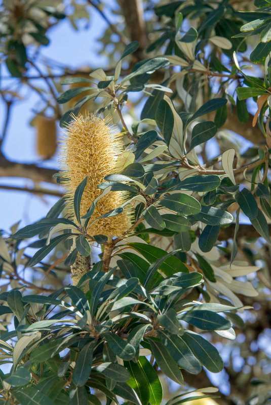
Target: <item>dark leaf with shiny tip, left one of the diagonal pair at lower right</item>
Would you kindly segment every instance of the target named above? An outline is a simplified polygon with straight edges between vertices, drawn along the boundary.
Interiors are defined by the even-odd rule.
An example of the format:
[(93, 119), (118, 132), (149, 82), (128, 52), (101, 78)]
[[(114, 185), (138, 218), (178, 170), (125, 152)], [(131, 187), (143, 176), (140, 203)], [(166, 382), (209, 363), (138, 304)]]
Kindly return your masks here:
[(179, 336), (172, 335), (171, 333), (165, 334), (161, 331), (159, 331), (158, 334), (162, 343), (164, 343), (166, 349), (178, 363), (179, 367), (191, 374), (198, 374), (201, 371), (200, 362)]

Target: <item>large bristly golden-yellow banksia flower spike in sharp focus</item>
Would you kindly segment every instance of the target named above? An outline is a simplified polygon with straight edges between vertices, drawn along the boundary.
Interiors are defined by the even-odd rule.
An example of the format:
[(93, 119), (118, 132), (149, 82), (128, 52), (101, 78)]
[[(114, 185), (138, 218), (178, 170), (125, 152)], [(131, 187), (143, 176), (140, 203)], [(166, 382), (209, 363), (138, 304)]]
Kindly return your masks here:
[[(111, 133), (104, 120), (95, 115), (74, 117), (60, 150), (66, 205), (73, 220), (73, 196), (76, 188), (88, 176), (81, 200), (81, 215), (84, 215), (92, 201), (102, 193), (98, 185), (104, 182), (104, 176), (118, 171), (117, 160), (122, 149), (121, 134)], [(121, 191), (113, 191), (102, 197), (97, 202), (90, 224), (99, 216), (119, 207), (126, 199), (127, 193)], [(130, 213), (126, 210), (117, 216), (97, 219), (89, 226), (88, 234), (106, 235), (109, 239), (113, 236), (121, 237), (130, 226)]]

